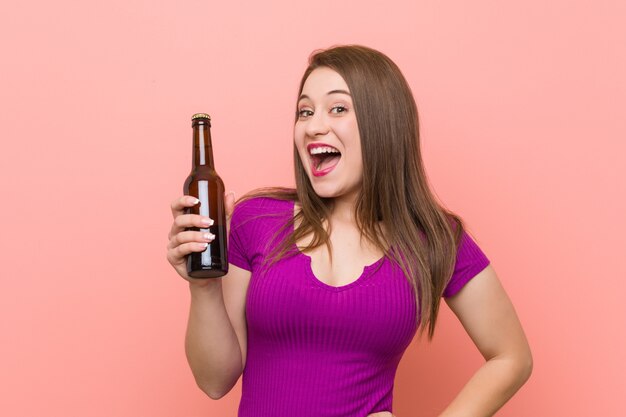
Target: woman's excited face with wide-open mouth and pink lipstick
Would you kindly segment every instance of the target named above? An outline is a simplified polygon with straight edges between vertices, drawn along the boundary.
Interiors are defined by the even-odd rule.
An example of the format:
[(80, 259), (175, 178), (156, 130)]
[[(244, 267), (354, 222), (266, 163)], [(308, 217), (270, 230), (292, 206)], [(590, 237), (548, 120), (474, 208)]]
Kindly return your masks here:
[(313, 70), (302, 87), (294, 141), (315, 193), (354, 202), (363, 177), (359, 127), (348, 86), (330, 68)]

